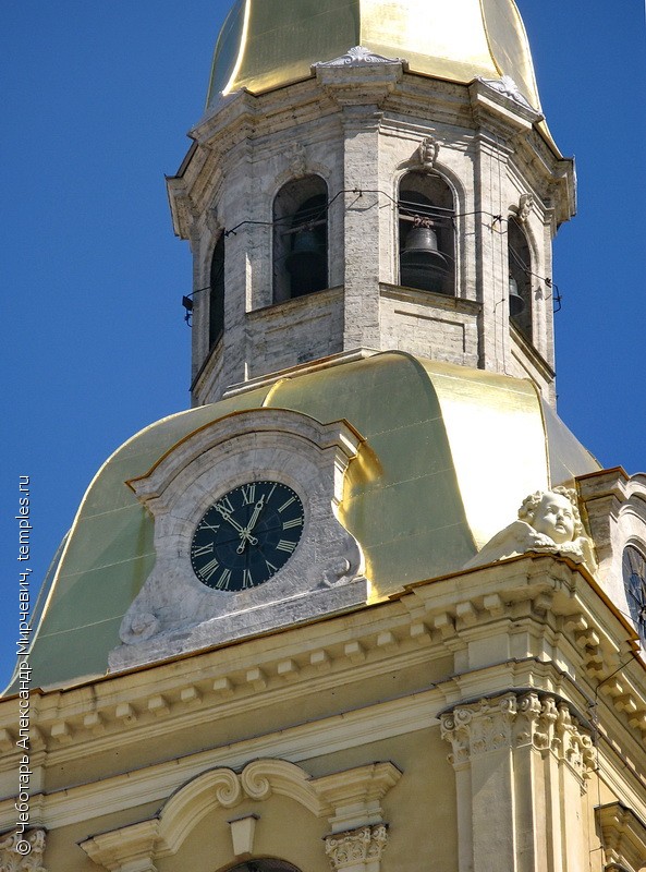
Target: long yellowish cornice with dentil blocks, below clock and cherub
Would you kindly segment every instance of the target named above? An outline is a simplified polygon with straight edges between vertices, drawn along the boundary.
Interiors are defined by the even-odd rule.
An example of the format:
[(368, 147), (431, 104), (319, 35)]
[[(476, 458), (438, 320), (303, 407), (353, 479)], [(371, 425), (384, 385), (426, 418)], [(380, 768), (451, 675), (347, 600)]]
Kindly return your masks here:
[[(212, 718), (214, 710), (233, 714), (252, 697), (254, 705), (273, 705), (296, 698), (304, 687), (310, 692), (332, 687), (350, 673), (353, 681), (366, 681), (395, 665), (409, 668), (453, 655), (478, 633), (490, 634), (497, 622), (504, 629), (525, 621), (549, 631), (550, 644), (561, 647), (590, 688), (600, 688), (615, 715), (646, 735), (645, 675), (632, 657), (631, 631), (584, 569), (546, 556), (513, 558), (470, 570), (468, 597), (464, 578), (454, 573), (419, 582), (390, 602), (224, 643), (174, 664), (42, 691), (33, 698), (34, 726), (42, 747), (62, 764), (85, 742), (96, 753), (191, 729)], [(16, 739), (13, 708), (9, 699), (0, 703), (8, 746)]]

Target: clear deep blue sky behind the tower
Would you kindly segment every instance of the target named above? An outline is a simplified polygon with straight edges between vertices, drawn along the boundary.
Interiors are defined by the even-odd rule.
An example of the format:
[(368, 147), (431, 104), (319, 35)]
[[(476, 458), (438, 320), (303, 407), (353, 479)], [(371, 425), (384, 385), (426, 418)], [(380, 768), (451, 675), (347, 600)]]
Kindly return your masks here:
[[(430, 1), (430, 0), (429, 0)], [(19, 476), (34, 578), (94, 473), (188, 404), (187, 244), (163, 174), (199, 119), (228, 0), (5, 0), (0, 683), (17, 621)], [(553, 278), (559, 413), (606, 467), (646, 470), (643, 0), (519, 0), (544, 110), (575, 155)], [(37, 586), (37, 582), (35, 582)]]

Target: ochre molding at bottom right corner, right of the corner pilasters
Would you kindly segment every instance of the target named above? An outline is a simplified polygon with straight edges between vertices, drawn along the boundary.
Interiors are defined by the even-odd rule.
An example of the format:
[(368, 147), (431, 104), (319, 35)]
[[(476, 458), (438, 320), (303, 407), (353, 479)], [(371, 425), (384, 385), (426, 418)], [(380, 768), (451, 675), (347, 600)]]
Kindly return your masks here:
[(597, 829), (604, 847), (606, 870), (638, 872), (646, 865), (646, 824), (621, 802), (597, 806)]

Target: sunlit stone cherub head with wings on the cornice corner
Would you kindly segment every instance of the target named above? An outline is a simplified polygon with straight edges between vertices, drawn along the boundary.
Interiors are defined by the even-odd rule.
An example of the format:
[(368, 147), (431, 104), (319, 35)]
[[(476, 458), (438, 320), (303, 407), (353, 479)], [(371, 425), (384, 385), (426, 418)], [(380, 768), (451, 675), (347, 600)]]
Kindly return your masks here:
[(575, 491), (552, 487), (525, 497), (519, 520), (497, 533), (466, 565), (492, 564), (527, 552), (558, 554), (596, 569), (593, 544), (585, 535)]

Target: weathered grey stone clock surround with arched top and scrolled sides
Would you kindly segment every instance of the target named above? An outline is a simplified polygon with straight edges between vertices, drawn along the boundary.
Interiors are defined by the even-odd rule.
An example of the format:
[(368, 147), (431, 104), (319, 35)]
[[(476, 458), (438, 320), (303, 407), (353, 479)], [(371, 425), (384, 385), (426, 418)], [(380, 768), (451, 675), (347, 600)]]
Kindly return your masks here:
[[(368, 581), (363, 554), (339, 520), (345, 471), (362, 443), (344, 421), (321, 424), (298, 412), (253, 409), (195, 431), (151, 470), (129, 481), (154, 517), (156, 561), (123, 618), (122, 644), (110, 653), (110, 669), (130, 668), (364, 604)], [(292, 496), (302, 505), (302, 513), (285, 514), (288, 524), (294, 522), (287, 528), (289, 537), (283, 531), (275, 543), (283, 542), (284, 562), (279, 565), (267, 556), (275, 570), (268, 570), (271, 574), (261, 581), (258, 576), (258, 583), (251, 583), (248, 577), (245, 583), (242, 572), (233, 581), (232, 566), (209, 576), (205, 566), (216, 558), (216, 550), (223, 558), (223, 541), (195, 537), (223, 497), (231, 501), (230, 518), (235, 522), (228, 524), (232, 533), (229, 550), (241, 548), (235, 556), (243, 558), (243, 569), (247, 555), (256, 555), (258, 561), (266, 559), (263, 548), (256, 552), (254, 544), (260, 543), (256, 529), (263, 532), (264, 500), (258, 506), (263, 482), (276, 483), (275, 495), (284, 488), (285, 499), (275, 506), (275, 513), (280, 514), (278, 509)], [(258, 496), (253, 505), (259, 511), (253, 518), (252, 509), (247, 519), (236, 512), (243, 508), (244, 488), (252, 504), (254, 486)], [(265, 492), (267, 498), (271, 486)], [(235, 504), (231, 499), (234, 493)], [(222, 507), (227, 510), (224, 504)], [(222, 529), (226, 521), (218, 514), (224, 522)], [(297, 518), (303, 521), (300, 537), (295, 535)], [(273, 537), (277, 532), (272, 531)], [(205, 550), (200, 558), (199, 548), (210, 549), (211, 544), (214, 556)], [(249, 546), (252, 550), (247, 550)], [(276, 550), (282, 556), (281, 548)], [(231, 579), (226, 584), (229, 577), (224, 573), (219, 588), (210, 586), (196, 573), (194, 564), (208, 577), (207, 582), (217, 585), (227, 568)], [(218, 559), (218, 568), (221, 565)]]

